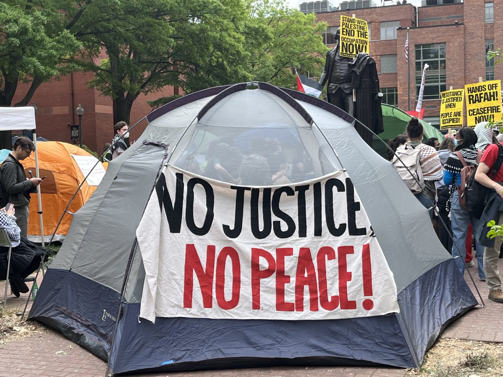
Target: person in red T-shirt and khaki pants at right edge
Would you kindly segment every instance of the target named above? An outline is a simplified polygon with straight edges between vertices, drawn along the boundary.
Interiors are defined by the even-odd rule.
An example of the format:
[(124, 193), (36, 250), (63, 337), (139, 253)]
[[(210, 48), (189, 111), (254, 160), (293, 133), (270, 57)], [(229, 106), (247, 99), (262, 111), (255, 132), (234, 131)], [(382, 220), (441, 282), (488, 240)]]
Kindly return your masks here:
[[(503, 143), (501, 144), (503, 145)], [(480, 159), (480, 164), (475, 173), (475, 180), (480, 184), (489, 187), (489, 189), (494, 190), (496, 194), (503, 199), (503, 186), (498, 183), (503, 182), (503, 166), (501, 166), (501, 168), (496, 172), (493, 179), (487, 175), (487, 173), (492, 169), (497, 156), (497, 144), (490, 144), (485, 148), (482, 158)], [(502, 224), (503, 212), (500, 212), (498, 225)], [(499, 247), (501, 246), (501, 243), (503, 243), (503, 238), (496, 237), (494, 239), (494, 247), (486, 247), (484, 249), (484, 272), (486, 283), (489, 287), (489, 299), (503, 304), (501, 277), (499, 276), (498, 270)]]

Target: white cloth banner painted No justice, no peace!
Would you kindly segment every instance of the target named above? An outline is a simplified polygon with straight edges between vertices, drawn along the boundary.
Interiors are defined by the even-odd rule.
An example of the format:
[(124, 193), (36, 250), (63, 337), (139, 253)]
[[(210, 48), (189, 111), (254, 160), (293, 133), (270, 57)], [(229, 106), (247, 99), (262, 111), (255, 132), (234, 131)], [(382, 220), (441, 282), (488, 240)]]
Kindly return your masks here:
[(321, 320), (399, 312), (345, 170), (245, 187), (166, 165), (136, 231), (140, 317)]

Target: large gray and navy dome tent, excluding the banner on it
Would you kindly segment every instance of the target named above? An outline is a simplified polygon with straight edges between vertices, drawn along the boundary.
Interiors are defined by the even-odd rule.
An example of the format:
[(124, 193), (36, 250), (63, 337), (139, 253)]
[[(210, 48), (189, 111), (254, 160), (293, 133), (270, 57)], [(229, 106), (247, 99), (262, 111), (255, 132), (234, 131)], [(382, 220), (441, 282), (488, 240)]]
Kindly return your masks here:
[[(94, 195), (73, 216), (30, 311), (30, 318), (108, 360), (113, 373), (243, 363), (417, 367), (442, 330), (477, 305), (427, 210), (340, 109), (301, 92), (242, 83), (184, 96), (147, 120), (141, 138), (110, 162)], [(225, 153), (214, 152), (217, 145)], [(278, 161), (289, 166), (304, 155), (307, 168), (285, 173), (293, 181), (347, 170), (394, 274), (399, 314), (138, 321), (145, 272), (135, 232), (163, 165), (169, 160), (197, 170), (216, 156), (229, 163), (233, 178), (248, 174), (243, 179), (257, 180), (262, 165), (252, 163), (254, 169), (244, 173), (234, 165), (238, 156), (261, 148), (276, 154), (281, 149)]]

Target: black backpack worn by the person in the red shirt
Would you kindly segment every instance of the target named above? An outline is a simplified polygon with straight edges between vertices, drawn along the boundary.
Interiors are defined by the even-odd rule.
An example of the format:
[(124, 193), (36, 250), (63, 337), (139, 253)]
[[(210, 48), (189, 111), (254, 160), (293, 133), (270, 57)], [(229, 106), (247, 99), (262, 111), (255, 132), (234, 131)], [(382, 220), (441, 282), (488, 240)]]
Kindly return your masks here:
[[(496, 144), (498, 146), (498, 157), (492, 165), (491, 174), (489, 178), (493, 179), (496, 173), (501, 168), (503, 164), (503, 146), (501, 144)], [(477, 172), (478, 164), (475, 166), (475, 171), (471, 175), (468, 182), (465, 184), (465, 204), (468, 213), (475, 219), (480, 219), (482, 212), (484, 212), (485, 204), (487, 202), (487, 194), (489, 189), (475, 180), (475, 174)]]

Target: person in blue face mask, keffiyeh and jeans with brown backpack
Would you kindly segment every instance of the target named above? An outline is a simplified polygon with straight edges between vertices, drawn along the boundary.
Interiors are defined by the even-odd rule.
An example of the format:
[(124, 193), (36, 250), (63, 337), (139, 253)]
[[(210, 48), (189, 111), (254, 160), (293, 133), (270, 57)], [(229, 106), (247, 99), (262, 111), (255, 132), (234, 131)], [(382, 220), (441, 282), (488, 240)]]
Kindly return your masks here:
[[(461, 256), (460, 258), (455, 259), (460, 273), (464, 273), (465, 269), (465, 240), (466, 233), (468, 232), (468, 226), (471, 223), (473, 234), (479, 234), (480, 221), (475, 219), (473, 216), (470, 216), (469, 212), (461, 207), (461, 204), (459, 203), (458, 189), (461, 186), (461, 169), (464, 165), (456, 152), (461, 154), (467, 165), (475, 165), (478, 154), (478, 150), (475, 148), (477, 141), (478, 138), (473, 129), (469, 127), (461, 128), (456, 133), (456, 139), (454, 140), (456, 145), (455, 152), (449, 156), (444, 165), (444, 182), (447, 185), (453, 184), (455, 187), (451, 205), (451, 226), (454, 239), (452, 245), (452, 256)], [(484, 248), (477, 241), (475, 241), (475, 247), (477, 249), (478, 276), (481, 281), (485, 281), (483, 267)]]

